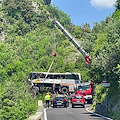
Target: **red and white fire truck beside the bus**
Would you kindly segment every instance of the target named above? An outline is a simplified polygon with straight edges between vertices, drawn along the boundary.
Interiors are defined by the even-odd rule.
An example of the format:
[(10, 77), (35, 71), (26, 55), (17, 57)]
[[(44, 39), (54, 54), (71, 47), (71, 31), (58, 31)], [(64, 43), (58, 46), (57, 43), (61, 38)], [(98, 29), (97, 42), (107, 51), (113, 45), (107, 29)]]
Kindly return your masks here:
[(93, 82), (89, 81), (77, 84), (75, 93), (83, 95), (87, 103), (92, 103), (93, 95), (95, 93)]

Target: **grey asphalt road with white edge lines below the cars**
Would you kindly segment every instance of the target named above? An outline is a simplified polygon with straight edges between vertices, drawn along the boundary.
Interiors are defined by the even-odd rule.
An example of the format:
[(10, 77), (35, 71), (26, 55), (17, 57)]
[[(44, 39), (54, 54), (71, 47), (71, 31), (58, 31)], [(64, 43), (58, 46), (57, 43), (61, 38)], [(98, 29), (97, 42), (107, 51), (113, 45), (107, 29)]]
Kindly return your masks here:
[[(86, 105), (88, 107), (90, 105)], [(75, 107), (71, 105), (68, 108), (58, 107), (49, 108), (47, 111), (47, 120), (106, 120), (86, 111), (86, 108)]]

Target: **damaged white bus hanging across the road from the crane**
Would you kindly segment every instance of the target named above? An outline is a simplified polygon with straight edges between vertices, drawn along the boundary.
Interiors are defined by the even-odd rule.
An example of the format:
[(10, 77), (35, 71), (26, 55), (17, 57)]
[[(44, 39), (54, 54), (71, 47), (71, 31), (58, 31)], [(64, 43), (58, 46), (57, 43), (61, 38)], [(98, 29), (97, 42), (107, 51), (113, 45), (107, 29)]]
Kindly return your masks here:
[(74, 92), (76, 84), (81, 83), (80, 73), (47, 73), (30, 72), (29, 81), (33, 87), (43, 91), (45, 87), (52, 87), (60, 93)]

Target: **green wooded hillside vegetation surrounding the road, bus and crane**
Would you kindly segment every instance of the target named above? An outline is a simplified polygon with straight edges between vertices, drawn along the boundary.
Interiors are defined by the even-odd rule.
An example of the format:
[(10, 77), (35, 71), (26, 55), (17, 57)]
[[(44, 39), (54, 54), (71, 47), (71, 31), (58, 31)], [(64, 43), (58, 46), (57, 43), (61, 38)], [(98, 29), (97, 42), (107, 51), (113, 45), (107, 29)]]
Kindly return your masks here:
[[(112, 16), (101, 23), (75, 26), (70, 16), (43, 0), (3, 0), (0, 8), (0, 118), (23, 120), (37, 110), (37, 98), (30, 94), (27, 79), (31, 71), (47, 71), (56, 52), (51, 72), (80, 72), (82, 81), (96, 84), (93, 108), (104, 104), (107, 116), (120, 119), (120, 0)], [(56, 18), (92, 56), (83, 56), (48, 19)], [(101, 81), (111, 83), (107, 89)], [(34, 106), (34, 107), (33, 107)], [(99, 106), (98, 106), (99, 107)], [(102, 113), (103, 114), (103, 113)]]

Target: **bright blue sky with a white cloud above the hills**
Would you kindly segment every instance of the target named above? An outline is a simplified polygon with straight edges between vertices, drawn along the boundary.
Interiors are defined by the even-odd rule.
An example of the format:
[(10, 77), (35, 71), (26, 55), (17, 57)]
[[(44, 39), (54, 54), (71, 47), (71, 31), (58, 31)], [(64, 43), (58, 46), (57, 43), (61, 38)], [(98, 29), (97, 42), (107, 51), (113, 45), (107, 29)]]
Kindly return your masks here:
[(67, 15), (70, 15), (74, 25), (89, 23), (93, 27), (93, 22), (105, 20), (107, 16), (115, 11), (116, 0), (52, 0), (52, 5), (57, 6)]

